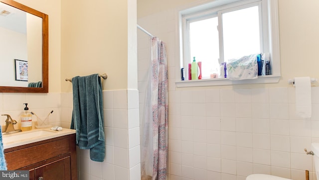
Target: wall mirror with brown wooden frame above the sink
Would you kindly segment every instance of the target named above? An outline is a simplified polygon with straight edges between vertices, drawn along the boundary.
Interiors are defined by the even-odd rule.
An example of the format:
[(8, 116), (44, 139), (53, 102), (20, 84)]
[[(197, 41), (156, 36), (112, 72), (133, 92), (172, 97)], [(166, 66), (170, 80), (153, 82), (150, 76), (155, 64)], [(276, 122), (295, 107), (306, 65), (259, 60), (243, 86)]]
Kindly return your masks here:
[(48, 15), (0, 0), (0, 92), (48, 92)]

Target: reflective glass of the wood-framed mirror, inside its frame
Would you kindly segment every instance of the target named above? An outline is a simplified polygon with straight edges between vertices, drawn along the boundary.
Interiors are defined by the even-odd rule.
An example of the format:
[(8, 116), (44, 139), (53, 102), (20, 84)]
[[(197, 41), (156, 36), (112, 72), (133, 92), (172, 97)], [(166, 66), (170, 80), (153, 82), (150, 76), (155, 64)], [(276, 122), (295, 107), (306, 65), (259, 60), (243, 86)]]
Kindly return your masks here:
[(0, 86), (42, 81), (42, 19), (0, 2), (0, 39)]

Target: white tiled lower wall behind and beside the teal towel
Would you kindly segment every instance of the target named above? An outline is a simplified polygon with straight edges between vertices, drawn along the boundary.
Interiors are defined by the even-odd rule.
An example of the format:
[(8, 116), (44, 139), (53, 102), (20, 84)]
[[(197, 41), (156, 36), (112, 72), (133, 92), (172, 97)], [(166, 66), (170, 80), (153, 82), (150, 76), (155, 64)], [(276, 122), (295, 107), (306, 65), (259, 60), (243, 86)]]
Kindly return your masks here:
[[(78, 149), (78, 179), (140, 180), (138, 90), (105, 90), (103, 98), (106, 157), (102, 163), (94, 162), (89, 150)], [(61, 123), (69, 128), (72, 93), (62, 93), (61, 99)]]

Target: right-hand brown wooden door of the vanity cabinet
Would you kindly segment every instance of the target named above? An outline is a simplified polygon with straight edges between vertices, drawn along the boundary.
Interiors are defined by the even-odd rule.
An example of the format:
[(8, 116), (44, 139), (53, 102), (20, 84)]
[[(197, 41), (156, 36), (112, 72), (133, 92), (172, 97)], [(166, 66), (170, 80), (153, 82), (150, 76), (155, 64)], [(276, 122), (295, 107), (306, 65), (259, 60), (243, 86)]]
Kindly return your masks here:
[(70, 157), (65, 157), (57, 161), (45, 164), (34, 169), (35, 180), (70, 180), (71, 167)]

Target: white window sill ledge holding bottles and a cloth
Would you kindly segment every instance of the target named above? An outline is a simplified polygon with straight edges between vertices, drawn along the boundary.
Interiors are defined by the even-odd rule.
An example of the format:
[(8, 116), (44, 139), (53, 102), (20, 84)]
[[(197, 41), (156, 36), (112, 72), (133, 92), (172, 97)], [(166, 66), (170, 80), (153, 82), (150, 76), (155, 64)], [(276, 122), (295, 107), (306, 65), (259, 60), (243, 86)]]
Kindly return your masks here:
[(225, 85), (245, 85), (245, 84), (266, 84), (266, 83), (278, 83), (280, 76), (269, 75), (259, 76), (253, 80), (228, 80), (227, 78), (218, 79), (203, 79), (203, 80), (190, 80), (190, 81), (176, 81), (175, 85), (178, 88), (181, 87), (203, 87), (203, 86), (225, 86)]

